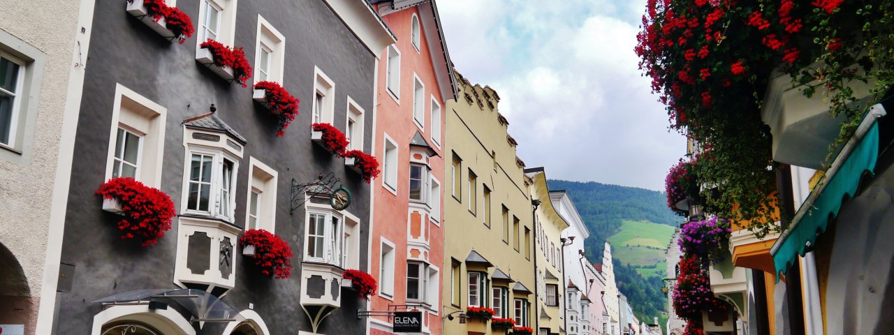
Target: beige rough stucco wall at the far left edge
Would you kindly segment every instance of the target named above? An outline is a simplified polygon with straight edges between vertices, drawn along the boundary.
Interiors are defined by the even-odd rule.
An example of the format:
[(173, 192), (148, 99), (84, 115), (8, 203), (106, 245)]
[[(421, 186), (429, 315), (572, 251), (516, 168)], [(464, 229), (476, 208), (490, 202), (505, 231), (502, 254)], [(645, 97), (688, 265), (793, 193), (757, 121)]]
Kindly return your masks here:
[[(29, 92), (29, 104), (36, 108), (20, 115), (28, 119), (30, 113), (37, 113), (36, 121), (26, 124), (25, 147), (21, 154), (0, 148), (0, 204), (4, 204), (0, 209), (0, 244), (21, 264), (28, 287), (28, 291), (4, 294), (30, 296), (25, 299), (30, 301), (13, 298), (22, 308), (17, 308), (17, 313), (27, 314), (25, 330), (29, 334), (37, 322), (79, 8), (79, 1), (9, 0), (0, 5), (0, 30), (8, 34), (3, 38), (4, 44), (11, 38), (15, 40), (4, 49), (35, 48), (43, 57), (39, 69), (35, 69), (35, 63), (26, 65), (29, 71), (41, 73), (39, 94)], [(0, 310), (0, 314), (5, 313)]]

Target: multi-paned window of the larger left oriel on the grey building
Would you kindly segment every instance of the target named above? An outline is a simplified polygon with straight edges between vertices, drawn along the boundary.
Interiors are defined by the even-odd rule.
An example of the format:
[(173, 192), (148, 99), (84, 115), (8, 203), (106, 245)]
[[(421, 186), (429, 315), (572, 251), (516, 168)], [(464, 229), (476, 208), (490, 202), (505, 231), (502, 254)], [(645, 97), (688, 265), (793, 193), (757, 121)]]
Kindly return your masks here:
[(232, 222), (236, 163), (223, 153), (192, 150), (189, 155), (187, 212), (207, 214)]

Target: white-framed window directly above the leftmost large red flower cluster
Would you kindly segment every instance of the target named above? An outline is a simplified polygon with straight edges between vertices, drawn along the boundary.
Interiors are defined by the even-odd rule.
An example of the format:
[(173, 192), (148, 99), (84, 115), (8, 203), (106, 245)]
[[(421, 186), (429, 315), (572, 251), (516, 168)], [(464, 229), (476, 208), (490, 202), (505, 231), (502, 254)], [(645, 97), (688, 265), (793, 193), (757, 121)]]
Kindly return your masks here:
[(120, 84), (115, 88), (114, 99), (112, 141), (105, 179), (131, 177), (158, 187), (161, 183), (165, 109)]

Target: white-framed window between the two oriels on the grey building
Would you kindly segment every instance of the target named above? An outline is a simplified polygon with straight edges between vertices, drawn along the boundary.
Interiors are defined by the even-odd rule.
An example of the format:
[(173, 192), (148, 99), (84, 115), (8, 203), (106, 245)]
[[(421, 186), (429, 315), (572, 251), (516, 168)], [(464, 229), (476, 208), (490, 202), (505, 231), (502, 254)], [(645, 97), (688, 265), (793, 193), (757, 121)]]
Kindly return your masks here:
[(249, 159), (249, 198), (247, 201), (245, 229), (275, 231), (276, 225), (276, 176), (274, 169)]

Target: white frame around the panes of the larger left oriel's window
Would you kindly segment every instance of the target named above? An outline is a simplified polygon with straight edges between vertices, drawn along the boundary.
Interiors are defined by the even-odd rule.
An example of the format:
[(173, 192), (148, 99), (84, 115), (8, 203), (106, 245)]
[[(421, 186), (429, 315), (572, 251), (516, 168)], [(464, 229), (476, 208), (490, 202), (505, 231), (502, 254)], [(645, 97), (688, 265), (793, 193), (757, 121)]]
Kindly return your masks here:
[[(190, 198), (190, 163), (192, 162), (192, 155), (210, 155), (212, 157), (211, 166), (214, 170), (211, 171), (211, 186), (210, 192), (212, 197), (208, 199), (210, 202), (208, 204), (207, 211), (200, 211), (197, 209), (190, 209), (189, 198)], [(217, 219), (222, 219), (226, 222), (233, 222), (233, 214), (235, 213), (236, 207), (236, 189), (237, 180), (239, 179), (239, 159), (233, 157), (232, 155), (227, 155), (223, 151), (215, 148), (208, 147), (198, 147), (198, 146), (190, 146), (186, 152), (184, 157), (185, 163), (183, 164), (183, 213), (186, 214), (196, 214), (196, 215), (204, 215), (210, 216)], [(223, 199), (223, 162), (224, 160), (232, 162), (232, 178), (230, 180), (230, 185), (228, 189), (228, 197), (229, 199)], [(223, 201), (227, 201), (226, 204), (226, 212), (221, 213), (223, 208)]]

